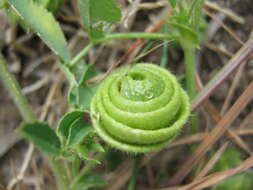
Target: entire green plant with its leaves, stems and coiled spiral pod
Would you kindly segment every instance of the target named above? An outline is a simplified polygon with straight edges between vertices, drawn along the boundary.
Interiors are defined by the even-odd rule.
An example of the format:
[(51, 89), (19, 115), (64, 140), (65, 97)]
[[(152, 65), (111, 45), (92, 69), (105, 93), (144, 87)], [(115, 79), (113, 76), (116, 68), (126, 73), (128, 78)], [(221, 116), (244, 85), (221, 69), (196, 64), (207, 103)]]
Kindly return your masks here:
[[(197, 26), (203, 0), (192, 0), (190, 4), (188, 1), (168, 1), (176, 13), (172, 20), (166, 20), (173, 26), (172, 33), (171, 30), (114, 33), (112, 25), (122, 20), (121, 9), (115, 0), (78, 0), (80, 20), (90, 43), (75, 57), (71, 56), (73, 52), (67, 48), (67, 39), (52, 14), (63, 2), (0, 0), (0, 7), (15, 13), (18, 21), (22, 21), (19, 23), (34, 31), (59, 58), (57, 64), (69, 82), (68, 100), (72, 106), (60, 120), (57, 130), (35, 121), (36, 117), (1, 56), (0, 67), (5, 69), (0, 69), (0, 75), (26, 121), (20, 127), (20, 133), (48, 154), (59, 189), (80, 190), (105, 184), (104, 179), (89, 173), (106, 157), (103, 147), (95, 140), (94, 129), (104, 141), (122, 151), (157, 151), (178, 135), (190, 112), (188, 96), (167, 70), (146, 63), (122, 67), (108, 76), (97, 90), (85, 85), (85, 81), (98, 72), (92, 65), (87, 65), (83, 57), (91, 48), (109, 40), (136, 38), (180, 42), (186, 52), (187, 93), (192, 98), (195, 95), (195, 51), (192, 50), (199, 44)], [(89, 109), (94, 128), (83, 118)], [(88, 163), (82, 167), (82, 161)], [(134, 189), (139, 161), (137, 156), (129, 190)]]

